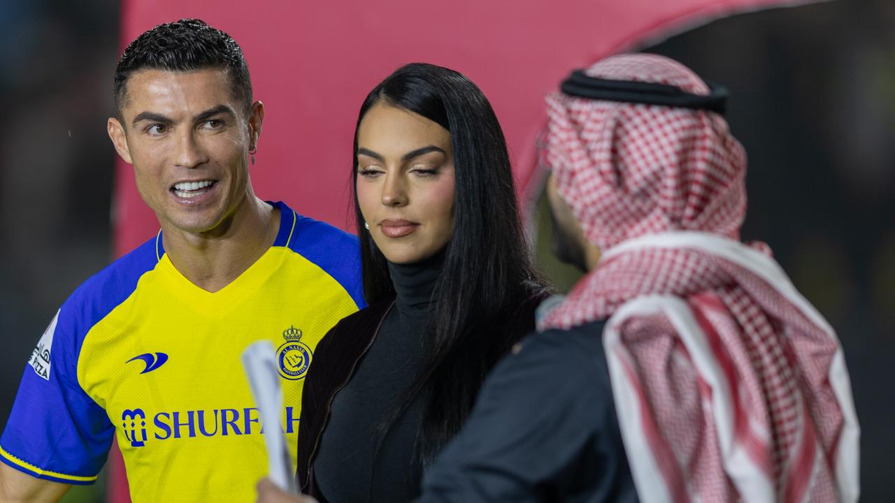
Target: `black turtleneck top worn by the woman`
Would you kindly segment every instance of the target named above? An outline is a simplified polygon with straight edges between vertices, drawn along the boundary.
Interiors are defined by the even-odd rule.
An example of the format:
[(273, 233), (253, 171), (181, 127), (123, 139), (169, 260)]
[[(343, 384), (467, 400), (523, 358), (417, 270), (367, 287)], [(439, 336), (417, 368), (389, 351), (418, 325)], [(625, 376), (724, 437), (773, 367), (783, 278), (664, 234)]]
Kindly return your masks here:
[(317, 487), (329, 503), (400, 503), (420, 494), (422, 465), (413, 454), (422, 398), (413, 400), (384, 437), (382, 429), (425, 364), (431, 295), (443, 262), (439, 253), (414, 264), (388, 263), (395, 306), (333, 398), (314, 460)]

